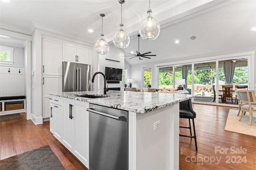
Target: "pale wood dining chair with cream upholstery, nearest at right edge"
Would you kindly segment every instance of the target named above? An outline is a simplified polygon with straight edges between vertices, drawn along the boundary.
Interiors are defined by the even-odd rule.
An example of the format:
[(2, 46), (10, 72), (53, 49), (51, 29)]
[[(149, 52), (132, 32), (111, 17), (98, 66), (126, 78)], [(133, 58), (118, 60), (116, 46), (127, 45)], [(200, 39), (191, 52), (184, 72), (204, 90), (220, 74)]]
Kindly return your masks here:
[(250, 113), (249, 125), (252, 125), (252, 113), (256, 113), (255, 92), (254, 90), (240, 90), (240, 89), (237, 89), (236, 91), (238, 92), (238, 95), (240, 97), (241, 111), (242, 111), (239, 121), (242, 120), (244, 112), (246, 111)]

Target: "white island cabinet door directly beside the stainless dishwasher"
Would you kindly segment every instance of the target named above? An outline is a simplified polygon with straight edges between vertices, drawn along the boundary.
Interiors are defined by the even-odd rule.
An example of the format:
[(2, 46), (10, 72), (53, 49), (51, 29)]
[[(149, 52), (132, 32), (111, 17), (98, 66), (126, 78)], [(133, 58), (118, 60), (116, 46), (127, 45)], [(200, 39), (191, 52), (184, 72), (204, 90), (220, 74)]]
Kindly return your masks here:
[(75, 104), (75, 149), (74, 155), (89, 167), (89, 103)]

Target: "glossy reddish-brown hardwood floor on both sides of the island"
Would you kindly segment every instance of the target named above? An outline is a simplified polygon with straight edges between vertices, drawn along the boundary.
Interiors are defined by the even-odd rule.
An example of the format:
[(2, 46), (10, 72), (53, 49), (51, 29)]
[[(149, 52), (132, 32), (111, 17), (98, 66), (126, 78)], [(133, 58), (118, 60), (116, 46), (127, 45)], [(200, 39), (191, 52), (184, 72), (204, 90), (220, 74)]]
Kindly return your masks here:
[[(193, 104), (193, 107), (197, 114), (198, 151), (195, 151), (194, 139), (180, 137), (181, 170), (256, 169), (256, 137), (224, 131), (229, 109), (237, 108), (202, 104)], [(34, 125), (25, 116), (22, 113), (22, 119), (0, 122), (0, 160), (49, 145), (67, 170), (86, 169), (53, 137), (49, 131), (49, 121)], [(186, 119), (180, 119), (180, 125), (187, 124)], [(181, 133), (184, 130), (187, 131), (180, 129)], [(245, 150), (244, 154), (232, 153), (230, 147), (236, 147), (238, 151), (240, 148), (246, 149), (246, 153)], [(216, 153), (215, 148), (218, 148)], [(228, 149), (227, 152), (221, 154), (219, 150), (225, 149)]]

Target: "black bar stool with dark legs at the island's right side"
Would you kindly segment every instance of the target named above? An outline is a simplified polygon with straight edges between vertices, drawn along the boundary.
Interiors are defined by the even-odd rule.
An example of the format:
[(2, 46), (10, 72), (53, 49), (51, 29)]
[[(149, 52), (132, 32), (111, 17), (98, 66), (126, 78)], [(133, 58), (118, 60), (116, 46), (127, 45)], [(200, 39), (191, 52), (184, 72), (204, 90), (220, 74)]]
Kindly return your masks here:
[[(180, 128), (186, 128), (190, 130), (190, 136), (180, 134), (180, 137), (194, 138), (196, 150), (197, 150), (196, 129), (195, 129), (195, 123), (194, 123), (194, 118), (196, 118), (196, 112), (192, 108), (191, 99), (180, 102), (180, 118), (188, 119), (188, 123), (189, 123), (189, 127), (180, 126)], [(192, 136), (190, 119), (192, 119), (192, 123), (193, 123), (194, 136)]]

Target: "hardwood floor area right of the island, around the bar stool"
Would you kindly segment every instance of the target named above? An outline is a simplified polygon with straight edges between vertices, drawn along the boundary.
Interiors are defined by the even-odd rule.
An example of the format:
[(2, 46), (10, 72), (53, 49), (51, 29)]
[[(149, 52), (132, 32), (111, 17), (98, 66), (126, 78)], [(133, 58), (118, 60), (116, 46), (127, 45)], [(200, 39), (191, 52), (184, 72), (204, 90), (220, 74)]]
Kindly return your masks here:
[[(180, 170), (256, 170), (256, 137), (224, 130), (229, 109), (238, 108), (203, 104), (193, 108), (198, 151), (194, 139), (180, 137)], [(180, 119), (180, 125), (188, 126), (188, 120)], [(189, 135), (188, 129), (180, 132)]]

